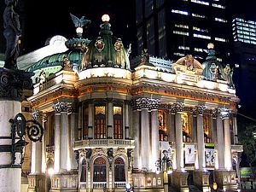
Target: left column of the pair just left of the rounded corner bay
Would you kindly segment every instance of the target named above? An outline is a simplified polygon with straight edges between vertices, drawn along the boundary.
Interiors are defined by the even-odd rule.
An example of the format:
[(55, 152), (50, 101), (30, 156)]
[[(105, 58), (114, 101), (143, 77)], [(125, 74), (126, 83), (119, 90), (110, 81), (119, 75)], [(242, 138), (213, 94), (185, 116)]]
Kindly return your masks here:
[(60, 171), (60, 148), (61, 148), (61, 108), (60, 104), (55, 103), (55, 173)]

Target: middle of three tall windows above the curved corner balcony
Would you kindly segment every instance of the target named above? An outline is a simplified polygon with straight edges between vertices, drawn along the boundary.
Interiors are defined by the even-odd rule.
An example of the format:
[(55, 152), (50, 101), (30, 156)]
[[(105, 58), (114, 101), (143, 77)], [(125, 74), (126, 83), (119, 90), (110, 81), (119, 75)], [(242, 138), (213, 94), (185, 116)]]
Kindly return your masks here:
[(95, 131), (97, 139), (106, 138), (106, 111), (105, 106), (95, 107)]

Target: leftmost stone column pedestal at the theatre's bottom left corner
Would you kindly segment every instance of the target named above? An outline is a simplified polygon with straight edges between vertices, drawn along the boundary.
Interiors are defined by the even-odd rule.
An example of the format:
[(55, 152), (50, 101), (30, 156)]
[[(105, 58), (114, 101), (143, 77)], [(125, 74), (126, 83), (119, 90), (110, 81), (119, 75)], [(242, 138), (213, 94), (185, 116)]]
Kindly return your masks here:
[(40, 175), (28, 175), (28, 189), (27, 192), (44, 192), (46, 190), (46, 177)]

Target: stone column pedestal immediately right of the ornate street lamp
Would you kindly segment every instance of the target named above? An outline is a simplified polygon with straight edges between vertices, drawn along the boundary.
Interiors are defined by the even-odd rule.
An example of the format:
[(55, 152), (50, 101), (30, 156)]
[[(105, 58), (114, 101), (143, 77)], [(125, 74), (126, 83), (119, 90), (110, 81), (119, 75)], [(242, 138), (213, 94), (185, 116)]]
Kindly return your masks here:
[(176, 191), (189, 191), (188, 172), (172, 172), (171, 185)]

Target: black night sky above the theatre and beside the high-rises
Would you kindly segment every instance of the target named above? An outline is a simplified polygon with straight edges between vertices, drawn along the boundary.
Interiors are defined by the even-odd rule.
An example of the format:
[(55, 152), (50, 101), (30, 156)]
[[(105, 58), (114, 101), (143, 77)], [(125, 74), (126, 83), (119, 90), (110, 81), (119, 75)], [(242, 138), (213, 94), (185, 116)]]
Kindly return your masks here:
[[(172, 0), (167, 0), (172, 1)], [(230, 15), (239, 15), (247, 20), (256, 20), (255, 0), (226, 0), (230, 3)], [(132, 30), (135, 20), (135, 0), (20, 0), (19, 15), (23, 27), (23, 52), (26, 53), (44, 46), (47, 38), (62, 35), (66, 38), (75, 36), (75, 28), (69, 13), (85, 16), (92, 20), (84, 37), (95, 37), (99, 32), (101, 16), (110, 15), (112, 30), (115, 36), (123, 39), (127, 46), (136, 39)], [(0, 13), (3, 15), (4, 0), (0, 0)], [(0, 52), (4, 50), (3, 16), (1, 17)], [(128, 25), (128, 28), (127, 28)]]

